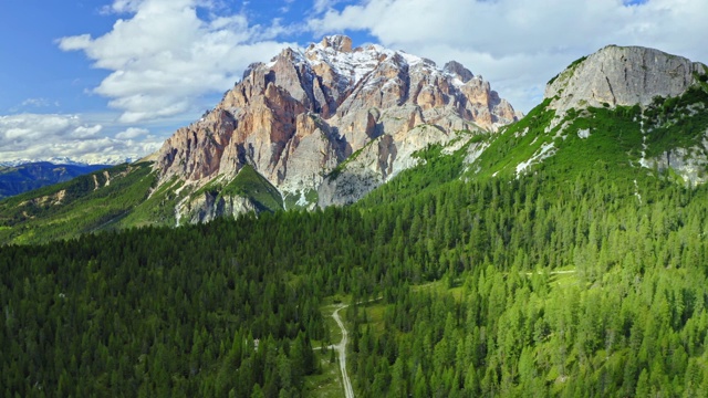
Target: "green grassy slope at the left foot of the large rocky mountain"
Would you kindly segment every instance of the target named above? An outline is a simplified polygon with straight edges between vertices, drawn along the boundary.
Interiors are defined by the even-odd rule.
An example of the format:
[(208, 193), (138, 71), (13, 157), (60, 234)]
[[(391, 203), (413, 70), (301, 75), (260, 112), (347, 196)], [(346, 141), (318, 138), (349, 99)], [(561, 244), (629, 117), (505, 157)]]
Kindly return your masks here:
[(217, 200), (243, 197), (258, 211), (283, 209), (280, 192), (252, 167), (228, 182), (180, 191), (174, 178), (155, 189), (149, 164), (123, 165), (0, 201), (0, 242), (40, 243), (101, 230), (175, 226), (175, 208), (186, 196), (212, 192)]

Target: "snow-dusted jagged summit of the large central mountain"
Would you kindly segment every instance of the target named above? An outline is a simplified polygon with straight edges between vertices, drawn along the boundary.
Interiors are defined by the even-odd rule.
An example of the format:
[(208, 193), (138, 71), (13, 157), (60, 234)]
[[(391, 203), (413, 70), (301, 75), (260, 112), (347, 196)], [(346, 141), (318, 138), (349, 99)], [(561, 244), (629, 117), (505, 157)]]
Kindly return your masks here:
[[(367, 96), (365, 101), (369, 102), (373, 98), (367, 93), (372, 90), (383, 92), (381, 98), (372, 104), (379, 108), (404, 103), (424, 108), (430, 105), (458, 106), (459, 112), (468, 113), (466, 119), (489, 129), (512, 122), (516, 116), (509, 113), (511, 106), (490, 90), (488, 82), (475, 76), (456, 61), (439, 69), (431, 60), (405, 51), (377, 44), (352, 48), (352, 40), (345, 35), (325, 36), (320, 43), (312, 43), (304, 49), (283, 49), (269, 63), (250, 65), (243, 80), (248, 80), (258, 69), (260, 73), (268, 70), (264, 71), (268, 82), (272, 81), (294, 94), (295, 100), (324, 118), (335, 115), (341, 105), (344, 105), (344, 109), (341, 109), (340, 116), (346, 114), (350, 111), (347, 107), (361, 105), (358, 100), (362, 96)], [(300, 75), (293, 76), (293, 69)], [(415, 74), (421, 74), (425, 78), (408, 82), (410, 75)], [(436, 87), (439, 84), (442, 87)], [(467, 87), (462, 88), (465, 85)], [(490, 95), (492, 103), (486, 104), (483, 98), (478, 98), (478, 91), (488, 92), (482, 95)], [(469, 96), (481, 101), (455, 101)], [(345, 102), (347, 98), (350, 101)], [(429, 100), (435, 100), (435, 103), (429, 104)]]

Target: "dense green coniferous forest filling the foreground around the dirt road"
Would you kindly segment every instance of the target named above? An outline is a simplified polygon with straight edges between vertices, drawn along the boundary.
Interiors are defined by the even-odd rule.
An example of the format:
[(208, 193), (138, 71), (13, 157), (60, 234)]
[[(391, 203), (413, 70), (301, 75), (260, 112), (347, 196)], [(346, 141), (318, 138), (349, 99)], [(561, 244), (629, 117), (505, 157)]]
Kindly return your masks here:
[(361, 397), (708, 391), (705, 187), (429, 154), (347, 208), (0, 248), (0, 395), (319, 396), (333, 296)]

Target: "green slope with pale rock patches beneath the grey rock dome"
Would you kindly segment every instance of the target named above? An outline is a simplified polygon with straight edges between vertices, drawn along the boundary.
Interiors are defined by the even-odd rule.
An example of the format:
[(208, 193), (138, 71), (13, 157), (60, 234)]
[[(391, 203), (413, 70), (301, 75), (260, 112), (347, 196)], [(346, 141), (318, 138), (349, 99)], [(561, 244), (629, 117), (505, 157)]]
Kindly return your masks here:
[[(511, 178), (545, 169), (561, 180), (573, 181), (601, 169), (616, 184), (633, 184), (657, 175), (641, 167), (643, 156), (657, 158), (677, 148), (707, 149), (702, 144), (708, 132), (705, 83), (679, 97), (657, 97), (645, 109), (638, 105), (571, 109), (554, 121), (548, 104), (546, 100), (496, 136), (470, 167), (469, 177)], [(548, 157), (542, 156), (544, 147), (551, 148)], [(530, 165), (520, 167), (524, 163)]]

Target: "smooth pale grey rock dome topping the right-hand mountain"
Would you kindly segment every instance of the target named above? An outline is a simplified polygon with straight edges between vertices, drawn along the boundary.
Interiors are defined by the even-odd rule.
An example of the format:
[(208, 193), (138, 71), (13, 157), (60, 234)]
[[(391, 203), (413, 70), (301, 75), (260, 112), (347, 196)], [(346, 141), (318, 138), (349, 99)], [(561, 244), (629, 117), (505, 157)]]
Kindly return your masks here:
[[(545, 97), (559, 114), (607, 104), (648, 105), (655, 96), (673, 97), (705, 74), (705, 65), (641, 46), (608, 45), (581, 59), (549, 82)], [(556, 97), (556, 98), (555, 98)]]

